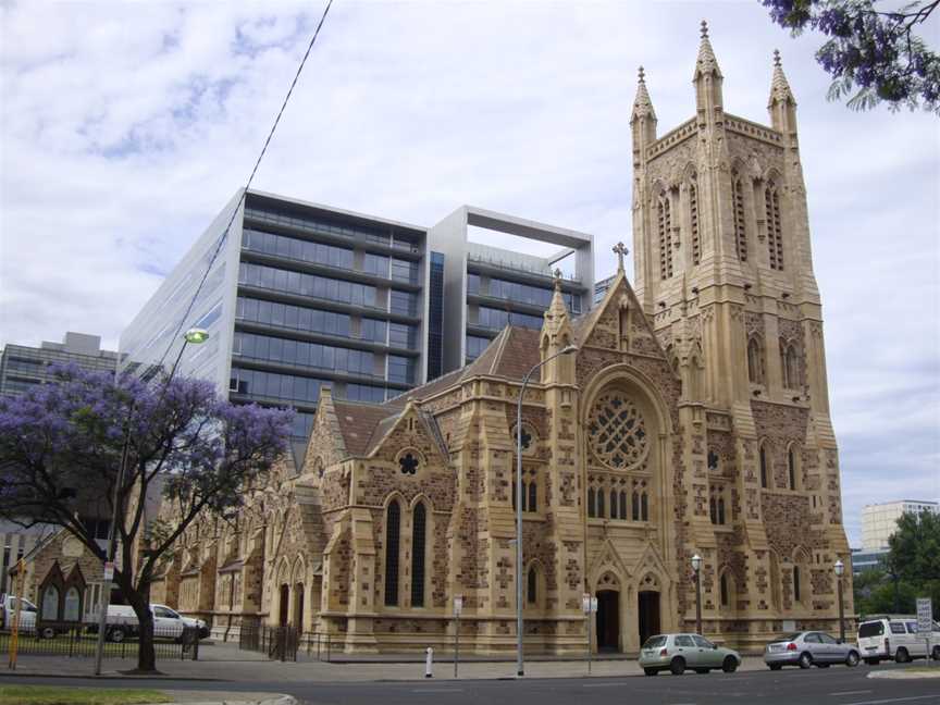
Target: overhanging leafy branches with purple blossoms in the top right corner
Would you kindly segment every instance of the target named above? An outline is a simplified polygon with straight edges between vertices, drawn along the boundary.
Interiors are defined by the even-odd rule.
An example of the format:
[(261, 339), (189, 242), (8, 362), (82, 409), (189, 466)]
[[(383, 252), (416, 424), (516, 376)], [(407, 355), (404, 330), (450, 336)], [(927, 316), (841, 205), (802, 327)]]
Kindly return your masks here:
[(816, 60), (832, 76), (829, 99), (854, 110), (886, 102), (940, 113), (940, 55), (915, 34), (940, 0), (760, 0), (794, 35), (828, 37)]

